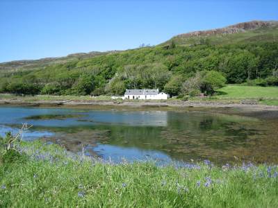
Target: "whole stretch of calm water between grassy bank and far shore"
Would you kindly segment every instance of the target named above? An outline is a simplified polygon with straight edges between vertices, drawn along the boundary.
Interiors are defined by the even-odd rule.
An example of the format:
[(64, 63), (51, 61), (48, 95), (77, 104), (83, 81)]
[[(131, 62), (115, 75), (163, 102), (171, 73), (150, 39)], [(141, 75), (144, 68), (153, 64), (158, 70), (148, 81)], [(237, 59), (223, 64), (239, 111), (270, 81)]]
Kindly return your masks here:
[(76, 110), (0, 107), (0, 135), (33, 127), (24, 139), (42, 138), (68, 150), (119, 162), (122, 158), (160, 162), (210, 159), (222, 164), (234, 156), (278, 162), (278, 122), (210, 112)]

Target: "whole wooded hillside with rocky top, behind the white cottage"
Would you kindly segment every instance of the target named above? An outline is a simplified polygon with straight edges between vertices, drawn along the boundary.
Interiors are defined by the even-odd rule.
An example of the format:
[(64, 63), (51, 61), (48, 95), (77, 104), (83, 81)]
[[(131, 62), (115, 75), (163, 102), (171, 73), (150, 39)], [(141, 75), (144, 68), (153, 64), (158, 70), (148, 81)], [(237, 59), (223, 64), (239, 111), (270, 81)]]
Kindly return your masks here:
[[(123, 94), (159, 88), (172, 95), (197, 71), (220, 71), (227, 83), (278, 76), (278, 21), (250, 21), (181, 34), (152, 47), (0, 64), (1, 92)], [(274, 80), (273, 80), (274, 79)]]

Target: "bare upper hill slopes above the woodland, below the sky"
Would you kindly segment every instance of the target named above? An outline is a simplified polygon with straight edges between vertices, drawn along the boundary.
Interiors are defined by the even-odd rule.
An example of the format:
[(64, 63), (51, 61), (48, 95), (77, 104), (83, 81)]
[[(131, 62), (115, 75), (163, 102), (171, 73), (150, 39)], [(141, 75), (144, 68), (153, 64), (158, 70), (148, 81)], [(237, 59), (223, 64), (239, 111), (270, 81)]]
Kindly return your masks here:
[[(234, 24), (224, 28), (216, 28), (208, 31), (195, 31), (183, 33), (172, 37), (170, 40), (158, 44), (157, 46), (169, 46), (174, 43), (179, 46), (195, 46), (209, 43), (212, 45), (224, 44), (245, 44), (247, 42), (277, 42), (278, 41), (278, 21), (247, 21)], [(130, 51), (126, 50), (126, 53)], [(0, 71), (13, 71), (18, 69), (38, 69), (51, 64), (65, 64), (79, 60), (91, 59), (101, 55), (111, 55), (124, 51), (91, 51), (89, 53), (72, 53), (58, 58), (41, 58), (38, 60), (15, 60), (0, 63)], [(125, 53), (124, 52), (124, 53)]]

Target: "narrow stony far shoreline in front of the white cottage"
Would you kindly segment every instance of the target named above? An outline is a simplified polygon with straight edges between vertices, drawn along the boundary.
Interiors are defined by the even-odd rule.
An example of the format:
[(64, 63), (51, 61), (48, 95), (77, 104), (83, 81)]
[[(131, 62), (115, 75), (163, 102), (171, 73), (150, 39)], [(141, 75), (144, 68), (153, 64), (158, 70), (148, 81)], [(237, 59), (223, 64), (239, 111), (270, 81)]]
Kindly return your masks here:
[(29, 106), (29, 107), (239, 107), (248, 110), (274, 110), (278, 111), (277, 105), (243, 104), (234, 101), (104, 101), (104, 100), (70, 100), (70, 101), (24, 101), (14, 99), (0, 99), (1, 105)]

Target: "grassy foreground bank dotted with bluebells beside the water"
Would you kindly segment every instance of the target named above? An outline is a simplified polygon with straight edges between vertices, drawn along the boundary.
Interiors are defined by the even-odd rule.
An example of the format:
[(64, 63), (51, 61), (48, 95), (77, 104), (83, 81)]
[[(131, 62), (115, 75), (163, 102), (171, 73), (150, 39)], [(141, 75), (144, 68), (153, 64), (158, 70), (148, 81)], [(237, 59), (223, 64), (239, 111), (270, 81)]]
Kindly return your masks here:
[(277, 166), (113, 164), (41, 141), (7, 155), (0, 207), (278, 207)]

